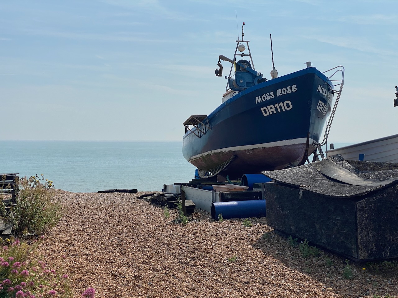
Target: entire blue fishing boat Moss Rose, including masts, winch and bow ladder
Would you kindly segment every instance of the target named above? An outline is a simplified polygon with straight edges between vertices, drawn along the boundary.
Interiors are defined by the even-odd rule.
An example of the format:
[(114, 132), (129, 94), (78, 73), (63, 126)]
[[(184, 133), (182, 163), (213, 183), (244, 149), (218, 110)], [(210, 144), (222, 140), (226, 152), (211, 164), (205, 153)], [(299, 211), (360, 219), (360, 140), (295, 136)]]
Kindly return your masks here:
[[(254, 68), (243, 25), (234, 57), (219, 56), (217, 77), (222, 77), (221, 60), (231, 64), (220, 106), (183, 122), (183, 156), (201, 178), (240, 178), (304, 164), (313, 153), (318, 156), (341, 95), (342, 66), (322, 73), (306, 62), (306, 68), (278, 77), (272, 58), (271, 79), (266, 79)], [(273, 57), (272, 39), (271, 53)], [(326, 122), (324, 141), (319, 142)]]

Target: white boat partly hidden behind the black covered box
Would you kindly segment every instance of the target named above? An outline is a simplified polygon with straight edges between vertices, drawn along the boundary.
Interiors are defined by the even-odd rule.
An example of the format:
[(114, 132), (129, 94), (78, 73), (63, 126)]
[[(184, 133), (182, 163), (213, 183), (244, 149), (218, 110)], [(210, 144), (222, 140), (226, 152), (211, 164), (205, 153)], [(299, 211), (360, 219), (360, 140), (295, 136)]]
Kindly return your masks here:
[(398, 134), (330, 149), (326, 154), (328, 156), (341, 154), (344, 159), (355, 161), (359, 159), (359, 154), (365, 154), (364, 161), (398, 163)]

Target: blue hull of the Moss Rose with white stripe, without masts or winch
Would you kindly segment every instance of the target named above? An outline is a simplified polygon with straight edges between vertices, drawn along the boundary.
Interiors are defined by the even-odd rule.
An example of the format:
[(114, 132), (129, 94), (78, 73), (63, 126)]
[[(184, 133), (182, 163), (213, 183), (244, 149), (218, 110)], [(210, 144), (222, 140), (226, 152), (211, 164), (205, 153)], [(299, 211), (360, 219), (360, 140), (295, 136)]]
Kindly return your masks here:
[(234, 156), (220, 174), (236, 177), (302, 164), (320, 139), (332, 89), (325, 75), (306, 68), (241, 91), (209, 114), (211, 130), (185, 133), (183, 156), (201, 170)]

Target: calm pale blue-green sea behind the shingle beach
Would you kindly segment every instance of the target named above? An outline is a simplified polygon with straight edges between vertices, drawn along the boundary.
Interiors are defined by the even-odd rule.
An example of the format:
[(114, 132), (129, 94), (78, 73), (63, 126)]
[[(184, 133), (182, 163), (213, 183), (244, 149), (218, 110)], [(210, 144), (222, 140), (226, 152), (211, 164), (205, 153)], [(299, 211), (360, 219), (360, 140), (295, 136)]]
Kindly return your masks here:
[(182, 141), (0, 141), (0, 173), (43, 174), (69, 192), (159, 192), (194, 178), (196, 168), (181, 148)]

